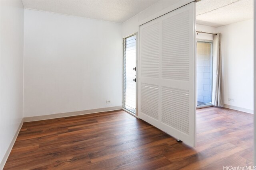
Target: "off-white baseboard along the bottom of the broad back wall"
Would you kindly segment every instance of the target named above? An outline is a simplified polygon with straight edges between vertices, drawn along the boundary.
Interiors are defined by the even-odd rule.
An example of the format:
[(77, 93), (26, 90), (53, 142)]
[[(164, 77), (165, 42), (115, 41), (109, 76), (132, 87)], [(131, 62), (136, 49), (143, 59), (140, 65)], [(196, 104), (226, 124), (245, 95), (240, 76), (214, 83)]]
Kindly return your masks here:
[(122, 109), (122, 106), (114, 106), (114, 107), (105, 107), (100, 109), (91, 109), (91, 110), (83, 110), (83, 111), (72, 111), (67, 113), (56, 113), (51, 115), (42, 115), (42, 116), (33, 116), (33, 117), (24, 117), (24, 122), (29, 121), (38, 121), (38, 120), (47, 120), (47, 119), (55, 119), (60, 117), (70, 117), (70, 116), (76, 116), (76, 115), (86, 115), (91, 113), (100, 113), (104, 111), (113, 111), (113, 110), (120, 110)]

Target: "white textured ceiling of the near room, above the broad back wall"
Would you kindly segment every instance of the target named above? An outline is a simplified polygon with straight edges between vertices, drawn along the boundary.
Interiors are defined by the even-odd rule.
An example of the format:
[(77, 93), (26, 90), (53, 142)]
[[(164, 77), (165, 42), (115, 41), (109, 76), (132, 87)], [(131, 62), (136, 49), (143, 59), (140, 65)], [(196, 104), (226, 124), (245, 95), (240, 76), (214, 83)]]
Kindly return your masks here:
[(158, 0), (22, 0), (24, 8), (123, 23)]

